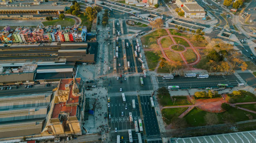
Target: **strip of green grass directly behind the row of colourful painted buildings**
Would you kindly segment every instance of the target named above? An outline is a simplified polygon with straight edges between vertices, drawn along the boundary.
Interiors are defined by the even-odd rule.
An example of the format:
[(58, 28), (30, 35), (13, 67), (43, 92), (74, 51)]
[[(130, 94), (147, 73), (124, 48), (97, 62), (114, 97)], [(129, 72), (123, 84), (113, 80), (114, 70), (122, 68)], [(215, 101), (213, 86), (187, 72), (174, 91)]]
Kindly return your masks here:
[(67, 26), (74, 26), (75, 21), (72, 18), (65, 18), (65, 20), (50, 20), (50, 21), (45, 21), (42, 22), (44, 26), (48, 25), (61, 25), (61, 27), (67, 27)]

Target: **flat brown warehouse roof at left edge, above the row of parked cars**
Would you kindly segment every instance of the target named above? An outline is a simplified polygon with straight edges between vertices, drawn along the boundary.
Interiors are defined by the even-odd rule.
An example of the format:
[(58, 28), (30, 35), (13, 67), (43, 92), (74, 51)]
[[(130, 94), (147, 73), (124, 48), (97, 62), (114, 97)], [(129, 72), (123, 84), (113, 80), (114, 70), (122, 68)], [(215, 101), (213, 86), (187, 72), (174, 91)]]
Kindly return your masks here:
[(32, 81), (34, 73), (11, 73), (11, 74), (0, 74), (0, 82), (15, 82), (15, 81)]

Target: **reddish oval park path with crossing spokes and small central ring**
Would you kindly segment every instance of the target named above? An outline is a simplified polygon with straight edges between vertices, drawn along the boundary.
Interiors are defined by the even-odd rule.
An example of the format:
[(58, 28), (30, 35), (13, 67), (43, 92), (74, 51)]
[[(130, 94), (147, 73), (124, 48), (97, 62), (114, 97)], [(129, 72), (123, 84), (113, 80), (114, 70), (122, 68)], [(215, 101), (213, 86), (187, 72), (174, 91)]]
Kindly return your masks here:
[[(183, 62), (184, 62), (185, 65), (191, 66), (191, 65), (194, 65), (194, 64), (197, 64), (198, 62), (200, 62), (201, 56), (200, 56), (199, 52), (197, 52), (196, 49), (205, 49), (205, 47), (194, 47), (193, 44), (192, 44), (187, 38), (184, 38), (184, 37), (178, 36), (178, 35), (172, 35), (172, 34), (170, 33), (169, 29), (165, 29), (165, 30), (166, 30), (166, 32), (168, 33), (168, 35), (159, 37), (159, 38), (157, 39), (157, 44), (158, 44), (159, 47), (160, 47), (160, 50), (161, 50), (161, 53), (162, 53), (162, 56), (164, 57), (164, 59), (166, 59), (166, 60), (169, 61), (169, 62), (176, 63), (174, 60), (170, 59), (170, 58), (166, 55), (166, 53), (164, 52), (164, 50), (168, 50), (168, 49), (169, 49), (169, 50), (171, 50), (172, 52), (179, 53), (179, 56), (182, 58), (182, 60), (183, 60)], [(166, 37), (170, 37), (170, 38), (172, 39), (172, 42), (173, 42), (174, 44), (171, 44), (168, 48), (163, 48), (163, 47), (162, 47), (162, 44), (161, 44), (161, 40), (162, 40), (163, 38), (166, 38)], [(176, 43), (176, 41), (174, 40), (173, 37), (179, 37), (179, 38), (184, 39), (184, 40), (189, 44), (189, 47), (185, 47), (185, 46), (183, 46), (182, 44), (179, 44), (179, 45), (181, 45), (182, 47), (184, 47), (184, 51), (175, 51), (175, 50), (173, 50), (171, 47), (174, 46), (174, 45), (177, 45), (177, 43)], [(196, 54), (197, 59), (196, 59), (194, 62), (192, 62), (192, 63), (187, 63), (187, 60), (186, 60), (186, 58), (185, 58), (184, 55), (183, 55), (184, 52), (187, 52), (187, 49), (192, 49), (193, 52)], [(154, 50), (154, 49), (144, 49), (144, 51), (151, 51), (151, 50)]]

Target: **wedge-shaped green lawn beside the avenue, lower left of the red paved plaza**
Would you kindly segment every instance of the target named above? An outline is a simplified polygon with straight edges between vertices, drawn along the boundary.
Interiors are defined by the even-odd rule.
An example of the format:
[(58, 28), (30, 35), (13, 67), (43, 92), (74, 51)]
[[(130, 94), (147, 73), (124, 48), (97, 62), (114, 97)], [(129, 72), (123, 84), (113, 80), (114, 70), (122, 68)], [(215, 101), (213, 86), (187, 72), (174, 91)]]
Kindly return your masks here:
[(181, 113), (187, 110), (188, 107), (186, 108), (167, 108), (163, 109), (162, 116), (164, 118), (164, 122), (169, 125), (172, 121), (172, 118), (178, 117)]

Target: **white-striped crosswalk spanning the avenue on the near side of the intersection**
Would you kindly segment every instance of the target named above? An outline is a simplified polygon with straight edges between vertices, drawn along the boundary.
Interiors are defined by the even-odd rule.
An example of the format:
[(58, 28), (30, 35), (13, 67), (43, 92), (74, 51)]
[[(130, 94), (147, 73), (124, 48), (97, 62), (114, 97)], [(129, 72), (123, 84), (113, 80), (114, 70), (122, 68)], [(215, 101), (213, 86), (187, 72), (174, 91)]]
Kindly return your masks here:
[(125, 96), (137, 96), (137, 95), (151, 95), (154, 90), (141, 90), (141, 91), (127, 91), (127, 92), (116, 92), (116, 93), (108, 93), (108, 97), (116, 97), (122, 96), (122, 93)]

